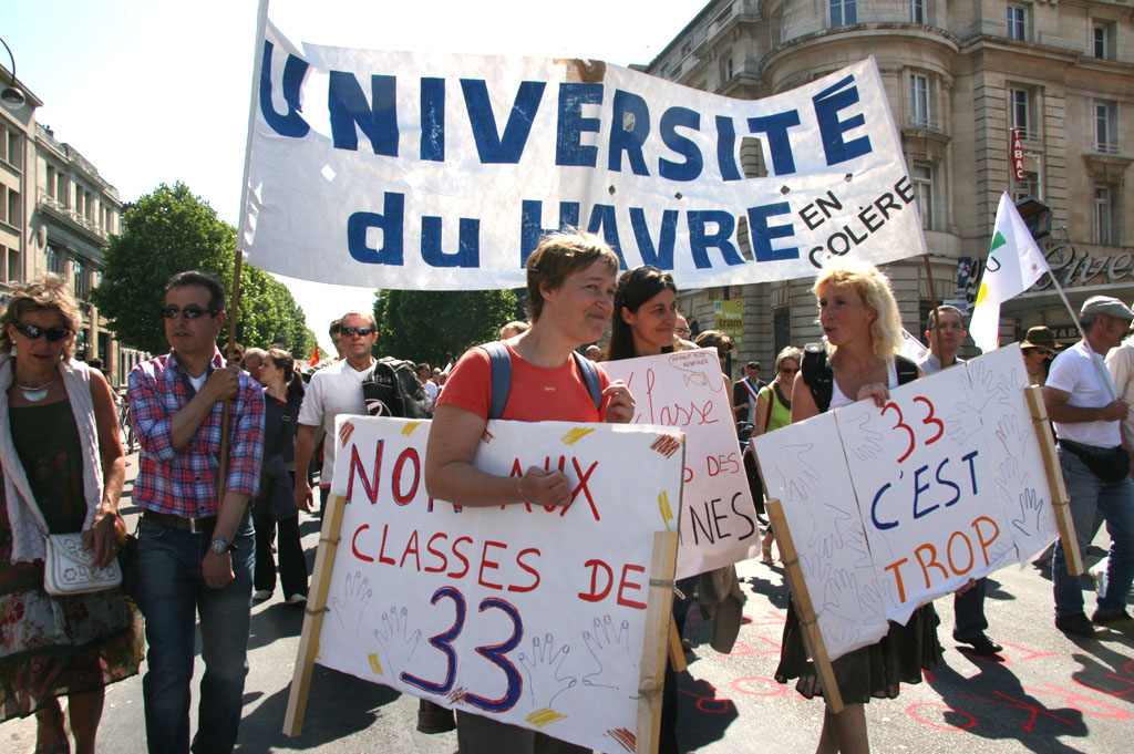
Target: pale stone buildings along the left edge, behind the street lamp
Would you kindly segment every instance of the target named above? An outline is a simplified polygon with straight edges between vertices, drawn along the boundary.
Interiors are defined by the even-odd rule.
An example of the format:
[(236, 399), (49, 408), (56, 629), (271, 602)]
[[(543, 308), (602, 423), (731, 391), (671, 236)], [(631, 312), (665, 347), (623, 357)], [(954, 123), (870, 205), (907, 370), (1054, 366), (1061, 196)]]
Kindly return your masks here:
[[(0, 69), (3, 81), (10, 81)], [(83, 329), (75, 355), (101, 358), (116, 388), (125, 387), (130, 368), (147, 354), (120, 345), (91, 303), (102, 279), (102, 252), (119, 231), (122, 203), (118, 189), (51, 128), (35, 122), (43, 102), (19, 83), (27, 101), (18, 110), (0, 108), (0, 304), (12, 286), (53, 273), (70, 283), (79, 304)]]

